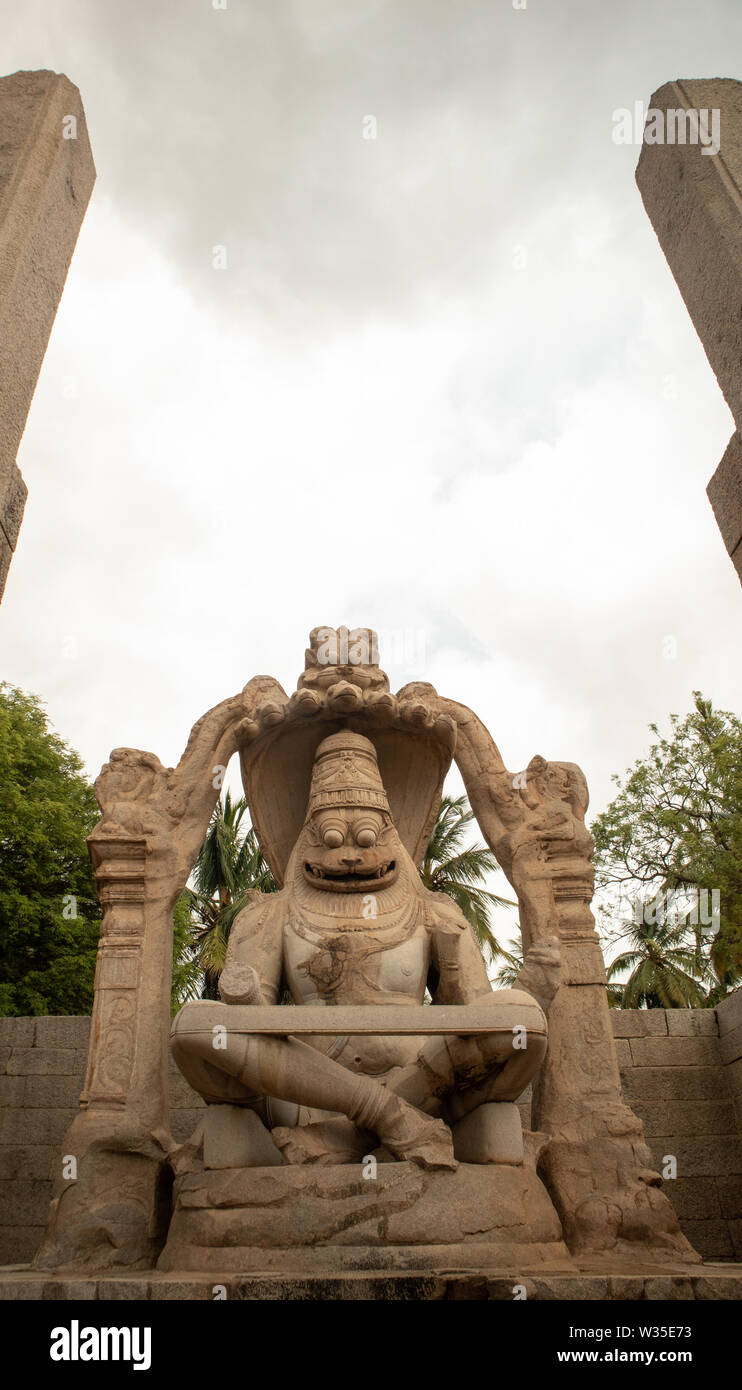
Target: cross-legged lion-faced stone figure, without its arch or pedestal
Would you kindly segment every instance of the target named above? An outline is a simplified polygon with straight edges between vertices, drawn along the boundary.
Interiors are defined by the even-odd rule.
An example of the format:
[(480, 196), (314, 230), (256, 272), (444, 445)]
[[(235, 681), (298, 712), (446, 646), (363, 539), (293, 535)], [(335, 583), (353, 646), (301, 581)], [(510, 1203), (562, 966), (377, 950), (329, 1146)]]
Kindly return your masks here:
[[(553, 966), (559, 972), (559, 958)], [(310, 1045), (249, 1031), (249, 1006), (275, 1004), (283, 988), (297, 1005), (331, 1008), (421, 1005), (427, 987), (434, 1004), (486, 1004), (493, 1031), (328, 1036)], [(220, 992), (222, 1005), (181, 1011), (174, 1056), (207, 1102), (239, 1101), (268, 1123), (286, 1115), (274, 1099), (295, 1102), (295, 1125), (272, 1129), (295, 1163), (350, 1162), (381, 1143), (424, 1168), (454, 1169), (449, 1125), (485, 1095), (490, 1102), (517, 1099), (543, 1059), (543, 1038), (517, 1048), (511, 1026), (504, 1037), (496, 1030), (503, 1002), (520, 1004), (525, 1019), (534, 1016), (534, 1001), (492, 991), (465, 917), (445, 894), (424, 888), (400, 841), (374, 744), (352, 730), (318, 745), (285, 885), (278, 894), (254, 894), (235, 922)], [(245, 1033), (232, 1033), (235, 1005), (246, 1006), (235, 1019)], [(461, 1009), (463, 1031), (465, 1017)], [(229, 1036), (228, 1047), (214, 1047), (220, 1030)], [(346, 1119), (317, 1116), (300, 1125), (300, 1106)]]

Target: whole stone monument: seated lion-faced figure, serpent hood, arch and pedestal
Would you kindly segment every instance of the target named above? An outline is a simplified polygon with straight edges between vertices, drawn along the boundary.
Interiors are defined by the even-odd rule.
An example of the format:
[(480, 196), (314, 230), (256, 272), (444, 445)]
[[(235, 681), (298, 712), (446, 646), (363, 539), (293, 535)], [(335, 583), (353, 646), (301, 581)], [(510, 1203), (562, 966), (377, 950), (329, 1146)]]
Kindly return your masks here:
[[(238, 917), (221, 1002), (172, 1026), (207, 1102), (175, 1145), (172, 906), (236, 752), (279, 891)], [(453, 759), (518, 897), (516, 990), (492, 990), (461, 913), (417, 873)], [(392, 694), (368, 628), (315, 628), (290, 696), (257, 676), (176, 767), (115, 749), (96, 792), (103, 924), (63, 1147), (76, 1176), (57, 1177), (39, 1266), (698, 1262), (621, 1095), (574, 763), (513, 774), (467, 706), (424, 681)]]

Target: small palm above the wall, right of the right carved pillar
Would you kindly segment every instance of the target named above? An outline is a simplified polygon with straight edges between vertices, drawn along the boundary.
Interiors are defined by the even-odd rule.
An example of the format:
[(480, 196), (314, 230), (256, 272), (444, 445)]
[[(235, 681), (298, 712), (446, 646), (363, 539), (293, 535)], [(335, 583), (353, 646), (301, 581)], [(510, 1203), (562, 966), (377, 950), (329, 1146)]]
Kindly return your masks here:
[[(609, 1004), (620, 1009), (703, 1009), (707, 966), (688, 941), (685, 923), (646, 920), (625, 924), (618, 940), (629, 949), (607, 967)], [(616, 983), (631, 970), (625, 983)]]

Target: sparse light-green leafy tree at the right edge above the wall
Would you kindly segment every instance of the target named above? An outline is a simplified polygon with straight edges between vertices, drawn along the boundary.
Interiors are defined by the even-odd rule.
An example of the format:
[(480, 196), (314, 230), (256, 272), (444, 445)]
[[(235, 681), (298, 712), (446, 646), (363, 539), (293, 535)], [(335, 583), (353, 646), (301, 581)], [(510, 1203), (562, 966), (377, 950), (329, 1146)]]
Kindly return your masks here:
[(592, 833), (607, 940), (628, 940), (628, 955), (645, 960), (646, 999), (673, 997), (679, 1008), (689, 1006), (692, 991), (684, 997), (688, 987), (671, 973), (659, 987), (666, 949), (692, 952), (695, 963), (688, 956), (677, 965), (707, 986), (706, 1002), (742, 979), (742, 723), (696, 691), (691, 713), (671, 714), (670, 724), (667, 738), (649, 726), (657, 741), (623, 780), (614, 777), (618, 795)]

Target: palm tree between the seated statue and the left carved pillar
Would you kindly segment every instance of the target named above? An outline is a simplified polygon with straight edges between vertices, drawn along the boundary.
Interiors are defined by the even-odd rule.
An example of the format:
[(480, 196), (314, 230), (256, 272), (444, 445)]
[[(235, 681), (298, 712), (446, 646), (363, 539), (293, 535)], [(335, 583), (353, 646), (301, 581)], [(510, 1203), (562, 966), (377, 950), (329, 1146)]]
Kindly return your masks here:
[(253, 827), (242, 828), (246, 812), (243, 796), (233, 802), (226, 792), (224, 802), (220, 799), (193, 867), (193, 888), (185, 890), (192, 920), (190, 954), (204, 974), (204, 999), (220, 997), (229, 933), (249, 894), (278, 891)]

